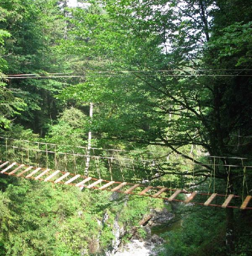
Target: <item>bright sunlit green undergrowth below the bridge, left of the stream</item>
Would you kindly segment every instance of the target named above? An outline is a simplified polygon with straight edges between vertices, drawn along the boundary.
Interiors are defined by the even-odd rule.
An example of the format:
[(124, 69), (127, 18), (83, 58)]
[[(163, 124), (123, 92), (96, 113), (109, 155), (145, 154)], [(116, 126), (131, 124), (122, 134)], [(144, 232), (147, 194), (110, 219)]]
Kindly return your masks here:
[[(115, 216), (128, 232), (162, 202), (79, 190), (11, 177), (0, 178), (1, 256), (104, 255), (112, 246)], [(108, 219), (103, 222), (104, 215)]]

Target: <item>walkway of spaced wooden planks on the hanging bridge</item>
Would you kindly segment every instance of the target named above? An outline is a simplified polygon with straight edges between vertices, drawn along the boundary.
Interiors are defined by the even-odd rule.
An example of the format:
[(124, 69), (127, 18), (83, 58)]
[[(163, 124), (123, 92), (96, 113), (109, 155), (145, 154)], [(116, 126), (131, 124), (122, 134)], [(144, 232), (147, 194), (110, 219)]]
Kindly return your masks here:
[[(1, 170), (3, 169), (3, 170)], [(9, 171), (9, 172), (8, 172)], [(207, 201), (205, 203), (200, 203), (198, 201), (192, 202), (192, 200), (199, 195), (201, 196), (207, 196), (207, 194), (203, 193), (197, 193), (197, 192), (186, 192), (180, 189), (169, 189), (166, 187), (153, 187), (153, 186), (147, 186), (142, 184), (132, 184), (127, 182), (115, 182), (115, 181), (107, 181), (103, 179), (95, 179), (92, 177), (85, 177), (81, 176), (80, 174), (70, 174), (69, 172), (60, 172), (59, 170), (51, 170), (51, 169), (45, 169), (42, 167), (33, 167), (33, 166), (25, 166), (24, 164), (17, 164), (16, 162), (10, 163), (8, 161), (3, 162), (0, 161), (0, 174), (8, 174), (9, 176), (16, 176), (16, 177), (25, 177), (26, 179), (34, 179), (34, 180), (40, 180), (45, 182), (53, 182), (58, 184), (65, 184), (65, 185), (74, 185), (76, 187), (85, 187), (88, 189), (98, 189), (98, 190), (108, 190), (111, 192), (120, 192), (125, 194), (133, 194), (133, 195), (140, 195), (140, 196), (148, 196), (152, 198), (161, 198), (167, 201), (180, 201), (184, 203), (193, 203), (193, 204), (201, 204), (205, 206), (219, 206), (222, 208), (227, 207), (233, 207), (233, 208), (240, 208), (242, 210), (244, 209), (252, 209), (252, 207), (247, 207), (252, 196), (247, 195), (247, 197), (242, 201), (241, 206), (229, 206), (232, 199), (234, 197), (238, 197), (235, 195), (228, 195), (225, 197), (225, 201), (220, 204), (211, 204), (214, 199), (218, 197), (218, 201), (221, 201), (220, 198), (223, 198), (224, 195), (218, 195), (217, 193), (209, 194)], [(35, 176), (35, 174), (37, 176)], [(70, 177), (70, 178), (69, 178)], [(63, 181), (64, 180), (64, 181)], [(89, 183), (92, 181), (91, 183)], [(88, 182), (88, 185), (85, 185)], [(114, 186), (114, 187), (111, 187)], [(126, 187), (126, 189), (125, 189)], [(151, 190), (154, 190), (156, 193), (150, 193)], [(135, 192), (133, 192), (133, 190)], [(166, 198), (161, 197), (163, 193), (170, 193), (173, 191), (173, 194)], [(184, 194), (186, 196), (186, 199), (178, 200), (176, 197), (179, 194)], [(238, 197), (241, 198), (241, 197)], [(242, 199), (242, 198), (241, 198)]]

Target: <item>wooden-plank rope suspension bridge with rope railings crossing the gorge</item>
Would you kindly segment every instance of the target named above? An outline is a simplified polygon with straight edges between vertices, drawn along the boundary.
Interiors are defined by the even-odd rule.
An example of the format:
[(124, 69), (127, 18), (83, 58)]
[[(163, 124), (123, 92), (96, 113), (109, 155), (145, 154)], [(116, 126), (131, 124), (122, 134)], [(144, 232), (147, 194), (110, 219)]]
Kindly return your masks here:
[[(72, 185), (79, 188), (161, 198), (167, 201), (217, 206), (222, 208), (252, 209), (246, 178), (247, 158), (211, 157), (211, 161), (184, 160), (167, 153), (140, 152), (91, 148), (52, 143), (33, 142), (0, 137), (0, 174), (26, 179)], [(221, 161), (220, 161), (221, 160)], [(230, 161), (232, 160), (232, 161)], [(232, 164), (230, 163), (232, 162)], [(241, 162), (241, 165), (237, 164)], [(224, 163), (224, 164), (223, 164)], [(188, 171), (187, 169), (190, 169)], [(227, 175), (232, 169), (243, 173), (242, 195), (218, 193), (215, 180), (220, 169)], [(168, 170), (168, 172), (164, 171)], [(203, 174), (205, 171), (208, 175)], [(74, 173), (71, 173), (74, 172)], [(174, 174), (183, 172), (190, 182), (178, 189)], [(174, 179), (170, 187), (165, 177)], [(206, 193), (197, 191), (209, 181)], [(228, 176), (229, 178), (229, 176)], [(129, 182), (128, 182), (129, 181)]]

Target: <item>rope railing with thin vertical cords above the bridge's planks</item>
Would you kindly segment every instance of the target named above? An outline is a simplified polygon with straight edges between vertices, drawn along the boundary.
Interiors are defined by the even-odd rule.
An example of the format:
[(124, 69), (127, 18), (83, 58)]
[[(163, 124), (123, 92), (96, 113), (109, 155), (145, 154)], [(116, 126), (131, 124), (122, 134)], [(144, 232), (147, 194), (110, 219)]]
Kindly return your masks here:
[[(241, 173), (241, 177), (237, 177), (243, 184), (243, 197), (251, 190), (248, 181), (252, 166), (249, 165), (248, 158), (195, 156), (194, 161), (194, 158), (185, 159), (183, 155), (178, 154), (167, 157), (166, 153), (136, 150), (91, 148), (90, 152), (92, 154), (87, 154), (87, 147), (82, 146), (0, 137), (0, 160), (3, 162), (17, 162), (34, 168), (46, 166), (46, 169), (64, 170), (65, 173), (74, 172), (75, 175), (85, 176), (84, 170), (89, 157), (90, 177), (103, 177), (111, 182), (141, 182), (149, 186), (164, 186), (164, 183), (170, 183), (169, 186), (176, 189), (178, 184), (172, 177), (175, 175), (186, 177), (184, 187), (188, 187), (188, 190), (193, 188), (193, 192), (198, 189), (199, 184), (205, 184), (207, 195), (217, 191), (218, 173), (225, 174), (234, 170)], [(169, 176), (170, 174), (172, 175)], [(167, 179), (171, 181), (167, 182)], [(229, 183), (228, 179), (225, 187), (228, 188)]]

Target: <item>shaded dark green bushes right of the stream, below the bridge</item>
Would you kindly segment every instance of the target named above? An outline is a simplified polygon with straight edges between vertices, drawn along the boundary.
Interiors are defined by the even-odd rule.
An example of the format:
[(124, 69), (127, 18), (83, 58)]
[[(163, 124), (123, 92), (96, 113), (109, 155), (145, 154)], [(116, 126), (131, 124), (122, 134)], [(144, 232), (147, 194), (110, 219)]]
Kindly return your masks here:
[[(195, 209), (196, 208), (196, 209)], [(184, 214), (186, 208), (184, 208)], [(193, 213), (185, 215), (179, 231), (163, 234), (167, 238), (159, 256), (224, 255), (225, 221), (223, 210), (194, 206)], [(213, 229), (214, 227), (214, 229)]]

